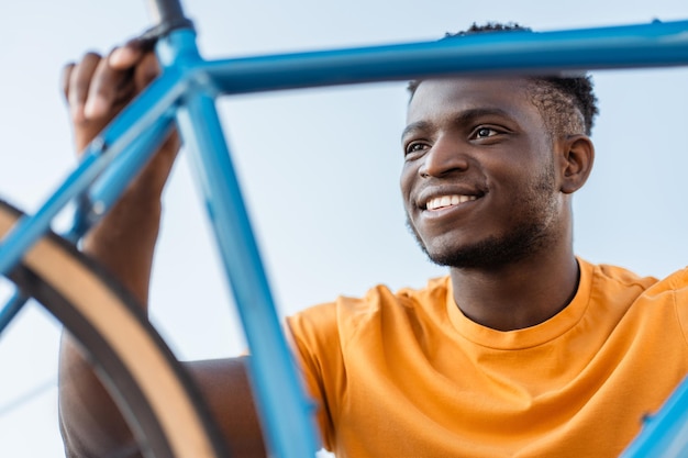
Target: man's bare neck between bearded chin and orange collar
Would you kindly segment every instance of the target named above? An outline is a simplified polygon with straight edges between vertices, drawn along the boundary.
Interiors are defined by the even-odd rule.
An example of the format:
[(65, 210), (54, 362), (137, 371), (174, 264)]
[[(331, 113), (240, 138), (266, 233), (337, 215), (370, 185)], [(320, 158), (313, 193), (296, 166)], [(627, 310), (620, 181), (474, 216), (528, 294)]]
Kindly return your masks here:
[(452, 268), (454, 300), (471, 321), (498, 331), (540, 324), (561, 312), (578, 289), (570, 250), (548, 253), (500, 269)]

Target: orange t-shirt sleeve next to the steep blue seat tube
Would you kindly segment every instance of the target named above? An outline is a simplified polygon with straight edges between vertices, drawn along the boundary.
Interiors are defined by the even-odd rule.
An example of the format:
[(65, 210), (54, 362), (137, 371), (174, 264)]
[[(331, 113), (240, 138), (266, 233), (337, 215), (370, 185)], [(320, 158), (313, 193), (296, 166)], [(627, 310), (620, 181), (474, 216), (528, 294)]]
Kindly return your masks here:
[(287, 317), (287, 328), (303, 381), (317, 404), (322, 445), (332, 450), (337, 405), (346, 380), (336, 305), (317, 305)]

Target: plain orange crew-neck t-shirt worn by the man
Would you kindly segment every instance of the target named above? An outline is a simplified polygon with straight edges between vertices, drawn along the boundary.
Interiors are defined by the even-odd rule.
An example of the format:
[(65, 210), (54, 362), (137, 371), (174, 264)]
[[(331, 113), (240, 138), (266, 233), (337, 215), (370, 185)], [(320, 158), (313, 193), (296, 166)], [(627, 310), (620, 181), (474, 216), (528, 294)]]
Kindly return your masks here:
[(448, 278), (288, 320), (323, 445), (339, 458), (617, 457), (688, 373), (688, 270), (580, 265), (566, 309), (499, 332)]

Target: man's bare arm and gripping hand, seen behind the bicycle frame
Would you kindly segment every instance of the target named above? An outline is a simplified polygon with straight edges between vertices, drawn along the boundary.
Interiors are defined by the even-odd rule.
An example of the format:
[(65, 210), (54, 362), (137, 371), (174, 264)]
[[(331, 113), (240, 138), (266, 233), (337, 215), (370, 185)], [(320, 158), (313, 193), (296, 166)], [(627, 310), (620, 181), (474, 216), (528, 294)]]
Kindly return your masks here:
[[(153, 54), (136, 42), (108, 57), (88, 53), (65, 67), (63, 83), (78, 152), (158, 74)], [(177, 155), (174, 134), (110, 213), (85, 237), (84, 252), (102, 264), (147, 308), (160, 198)], [(243, 359), (187, 365), (236, 456), (265, 456)], [(65, 334), (59, 362), (59, 422), (68, 456), (106, 456), (132, 443), (110, 395)]]

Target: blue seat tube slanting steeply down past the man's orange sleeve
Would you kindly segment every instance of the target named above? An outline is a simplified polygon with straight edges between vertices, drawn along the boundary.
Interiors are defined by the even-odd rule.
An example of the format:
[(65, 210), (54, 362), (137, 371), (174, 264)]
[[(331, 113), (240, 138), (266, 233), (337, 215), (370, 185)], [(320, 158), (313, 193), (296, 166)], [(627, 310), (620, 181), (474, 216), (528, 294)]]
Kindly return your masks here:
[[(195, 34), (175, 31), (165, 38), (174, 48), (197, 53)], [(160, 45), (158, 45), (159, 47)], [(165, 43), (162, 46), (167, 46)], [(199, 58), (200, 59), (200, 58)], [(193, 63), (181, 58), (190, 70)], [(275, 456), (313, 457), (314, 406), (307, 399), (288, 349), (263, 261), (232, 164), (212, 85), (196, 76), (177, 109), (177, 124), (201, 189), (217, 246), (228, 275), (251, 349), (249, 377), (268, 446)]]

